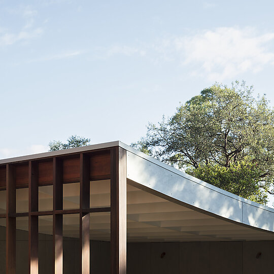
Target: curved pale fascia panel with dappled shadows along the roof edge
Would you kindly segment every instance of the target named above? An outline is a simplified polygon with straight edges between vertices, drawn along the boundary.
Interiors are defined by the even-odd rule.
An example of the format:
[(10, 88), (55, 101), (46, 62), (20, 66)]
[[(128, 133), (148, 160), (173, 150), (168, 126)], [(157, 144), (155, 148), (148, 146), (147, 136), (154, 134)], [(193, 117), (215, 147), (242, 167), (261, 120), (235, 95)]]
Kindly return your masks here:
[(142, 154), (127, 148), (127, 178), (146, 187), (147, 191), (158, 192), (161, 197), (176, 199), (182, 205), (216, 217), (274, 231), (272, 209), (204, 183)]

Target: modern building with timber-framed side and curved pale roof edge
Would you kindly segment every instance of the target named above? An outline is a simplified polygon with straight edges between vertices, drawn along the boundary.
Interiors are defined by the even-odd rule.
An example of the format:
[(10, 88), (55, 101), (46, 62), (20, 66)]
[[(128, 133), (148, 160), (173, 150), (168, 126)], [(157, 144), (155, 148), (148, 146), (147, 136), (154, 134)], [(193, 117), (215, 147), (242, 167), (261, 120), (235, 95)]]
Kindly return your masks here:
[(0, 160), (0, 239), (6, 274), (274, 269), (273, 209), (119, 141)]

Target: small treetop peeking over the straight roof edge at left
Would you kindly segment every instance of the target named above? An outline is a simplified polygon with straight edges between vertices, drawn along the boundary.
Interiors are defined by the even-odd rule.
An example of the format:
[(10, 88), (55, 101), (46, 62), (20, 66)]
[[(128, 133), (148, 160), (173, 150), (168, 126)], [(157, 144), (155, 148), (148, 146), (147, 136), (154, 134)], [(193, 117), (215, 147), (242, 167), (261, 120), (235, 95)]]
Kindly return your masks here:
[(77, 135), (72, 135), (72, 136), (68, 137), (68, 139), (66, 141), (67, 141), (67, 143), (62, 143), (61, 141), (50, 142), (49, 143), (49, 151), (88, 146), (90, 139), (80, 137)]

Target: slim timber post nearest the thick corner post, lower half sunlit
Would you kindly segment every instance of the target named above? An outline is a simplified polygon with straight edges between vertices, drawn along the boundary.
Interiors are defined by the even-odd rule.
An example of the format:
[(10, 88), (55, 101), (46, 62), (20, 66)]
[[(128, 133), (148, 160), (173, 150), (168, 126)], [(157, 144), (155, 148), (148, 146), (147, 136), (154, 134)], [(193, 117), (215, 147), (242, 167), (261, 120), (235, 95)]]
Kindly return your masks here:
[(89, 209), (89, 156), (80, 154), (80, 246), (81, 246), (81, 271), (82, 274), (89, 274), (90, 271), (90, 238), (89, 238), (89, 213), (83, 210)]

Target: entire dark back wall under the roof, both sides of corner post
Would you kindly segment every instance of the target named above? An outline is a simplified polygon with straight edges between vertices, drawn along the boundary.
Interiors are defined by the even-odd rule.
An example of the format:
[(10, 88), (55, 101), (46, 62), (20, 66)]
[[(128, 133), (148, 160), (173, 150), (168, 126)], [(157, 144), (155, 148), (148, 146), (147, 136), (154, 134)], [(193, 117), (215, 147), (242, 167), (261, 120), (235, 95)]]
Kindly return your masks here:
[[(5, 273), (5, 228), (0, 227), (0, 273)], [(28, 233), (17, 231), (16, 274), (28, 273)], [(64, 238), (64, 274), (78, 274), (78, 239)], [(261, 253), (259, 258), (257, 254)], [(165, 255), (164, 255), (165, 254)], [(162, 256), (161, 256), (162, 255)], [(110, 243), (91, 241), (91, 273), (110, 273)], [(52, 236), (39, 237), (39, 273), (52, 273)], [(268, 274), (274, 242), (129, 243), (127, 274)]]

